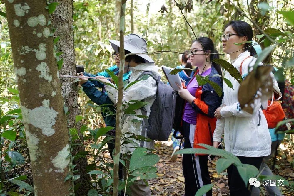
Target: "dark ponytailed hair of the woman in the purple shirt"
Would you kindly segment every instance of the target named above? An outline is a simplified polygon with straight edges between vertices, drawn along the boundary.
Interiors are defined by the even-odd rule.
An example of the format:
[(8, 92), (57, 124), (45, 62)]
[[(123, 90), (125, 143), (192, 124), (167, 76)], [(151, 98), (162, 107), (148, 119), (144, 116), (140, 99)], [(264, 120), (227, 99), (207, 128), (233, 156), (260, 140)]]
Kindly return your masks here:
[[(218, 51), (214, 48), (213, 41), (210, 38), (201, 37), (201, 38), (198, 38), (198, 40), (200, 43), (202, 43), (205, 52), (207, 52), (209, 50), (212, 53), (210, 55), (210, 60), (213, 60), (215, 58), (219, 58)], [(198, 40), (194, 40), (193, 43)], [(216, 71), (218, 72), (219, 75), (222, 75), (222, 71), (221, 71), (220, 66), (218, 64), (216, 64), (215, 62), (211, 62), (211, 65), (216, 69)]]

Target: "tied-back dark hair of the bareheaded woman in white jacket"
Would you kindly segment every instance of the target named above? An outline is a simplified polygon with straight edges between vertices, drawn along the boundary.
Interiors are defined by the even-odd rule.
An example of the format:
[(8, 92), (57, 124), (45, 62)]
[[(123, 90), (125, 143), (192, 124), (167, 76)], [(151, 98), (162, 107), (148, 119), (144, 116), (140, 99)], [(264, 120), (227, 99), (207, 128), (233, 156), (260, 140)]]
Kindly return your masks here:
[[(253, 31), (250, 24), (240, 20), (230, 21), (228, 24), (225, 25), (224, 29), (226, 29), (228, 26), (232, 26), (233, 30), (238, 34), (238, 36), (247, 36), (247, 41), (252, 41)], [(245, 43), (244, 49), (248, 50), (251, 56), (257, 56), (257, 53), (252, 46), (252, 43)]]

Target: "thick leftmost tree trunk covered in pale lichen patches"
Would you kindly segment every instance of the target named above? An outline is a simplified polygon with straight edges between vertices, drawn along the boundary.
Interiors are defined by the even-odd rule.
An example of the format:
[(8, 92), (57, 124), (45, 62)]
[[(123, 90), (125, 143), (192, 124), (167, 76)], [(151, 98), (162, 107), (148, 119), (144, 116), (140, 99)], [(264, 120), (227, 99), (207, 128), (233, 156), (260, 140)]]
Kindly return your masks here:
[[(45, 0), (4, 0), (35, 195), (72, 195), (69, 131)], [(49, 25), (48, 25), (49, 24)]]

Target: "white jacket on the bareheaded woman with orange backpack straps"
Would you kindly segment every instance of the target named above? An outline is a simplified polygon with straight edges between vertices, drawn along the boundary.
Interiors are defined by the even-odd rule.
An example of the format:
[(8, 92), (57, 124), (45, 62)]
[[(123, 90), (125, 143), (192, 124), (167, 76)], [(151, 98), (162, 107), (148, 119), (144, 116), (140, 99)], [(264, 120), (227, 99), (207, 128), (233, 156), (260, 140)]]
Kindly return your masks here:
[[(248, 56), (250, 56), (248, 51), (241, 53), (232, 65), (239, 70), (241, 62)], [(243, 76), (248, 74), (248, 66), (253, 67), (255, 61), (254, 57), (244, 60), (242, 64)], [(262, 64), (260, 63), (260, 65)], [(227, 71), (224, 71), (224, 77), (231, 81), (234, 90), (225, 83), (223, 84), (222, 105), (225, 107), (220, 110), (222, 118), (216, 121), (213, 141), (220, 142), (221, 136), (225, 132), (225, 149), (235, 156), (260, 157), (269, 155), (271, 139), (267, 121), (260, 108), (261, 102), (254, 103), (253, 114), (240, 110), (238, 103), (240, 84)], [(276, 80), (274, 78), (273, 80), (276, 84)], [(267, 105), (264, 106), (264, 108), (266, 107)], [(260, 126), (257, 126), (259, 113), (261, 115)]]

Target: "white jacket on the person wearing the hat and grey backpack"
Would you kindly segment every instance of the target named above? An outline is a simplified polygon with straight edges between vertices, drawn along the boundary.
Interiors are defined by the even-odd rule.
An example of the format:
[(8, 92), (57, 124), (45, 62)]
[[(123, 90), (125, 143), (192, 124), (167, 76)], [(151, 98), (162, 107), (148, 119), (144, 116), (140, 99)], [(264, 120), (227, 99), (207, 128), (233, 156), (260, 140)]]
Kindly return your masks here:
[[(130, 83), (137, 80), (137, 78), (144, 72), (144, 71), (151, 71), (153, 74), (158, 76), (158, 68), (154, 65), (154, 63), (141, 63), (137, 65), (136, 67), (130, 67), (131, 76), (130, 76)], [(114, 89), (113, 87), (106, 85), (106, 91), (108, 91), (108, 97), (111, 99), (113, 103), (117, 103), (118, 99), (118, 91)], [(144, 108), (147, 111), (147, 116), (150, 115), (150, 108), (156, 98), (156, 81), (149, 77), (147, 80), (141, 80), (137, 82), (136, 84), (132, 85), (125, 91), (123, 91), (123, 103), (127, 103), (131, 100), (138, 100), (138, 101), (144, 101), (148, 102), (147, 105), (144, 106)], [(126, 109), (123, 108), (123, 110)], [(135, 110), (136, 115), (142, 115), (142, 112), (140, 109)], [(142, 122), (131, 122), (133, 119), (138, 119), (139, 121), (142, 121), (142, 118), (136, 117), (135, 115), (125, 115), (122, 117), (122, 134), (125, 134), (127, 132), (132, 134), (125, 134), (123, 138), (127, 138), (133, 134), (141, 135), (142, 133)], [(145, 135), (145, 137), (147, 137)], [(121, 153), (127, 153), (128, 151), (133, 152), (135, 150), (134, 147), (138, 147), (140, 144), (140, 141), (137, 141), (136, 139), (131, 139), (135, 142), (134, 143), (128, 143), (128, 144), (122, 144), (124, 141), (121, 141)], [(153, 148), (154, 147), (154, 141), (151, 142), (144, 142), (144, 147), (146, 148)]]

